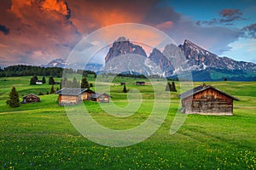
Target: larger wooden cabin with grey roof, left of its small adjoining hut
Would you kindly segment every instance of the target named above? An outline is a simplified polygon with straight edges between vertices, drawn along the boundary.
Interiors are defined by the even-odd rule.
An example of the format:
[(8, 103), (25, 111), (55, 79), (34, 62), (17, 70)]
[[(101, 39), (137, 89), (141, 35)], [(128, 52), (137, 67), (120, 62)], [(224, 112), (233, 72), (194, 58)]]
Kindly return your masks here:
[(94, 92), (88, 88), (61, 88), (55, 94), (59, 94), (59, 105), (76, 105), (82, 100), (91, 99)]

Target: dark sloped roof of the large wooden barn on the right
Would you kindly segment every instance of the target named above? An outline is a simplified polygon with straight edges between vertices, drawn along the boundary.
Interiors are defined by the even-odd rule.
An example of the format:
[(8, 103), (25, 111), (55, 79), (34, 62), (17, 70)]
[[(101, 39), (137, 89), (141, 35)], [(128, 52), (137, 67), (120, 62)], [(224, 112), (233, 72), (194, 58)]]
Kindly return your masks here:
[(232, 98), (232, 99), (235, 99), (235, 100), (239, 101), (239, 99), (237, 99), (237, 98), (231, 96), (230, 94), (226, 94), (226, 93), (224, 93), (223, 91), (219, 90), (218, 88), (214, 88), (213, 86), (210, 86), (210, 85), (198, 86), (198, 87), (193, 88), (193, 89), (191, 89), (191, 90), (189, 90), (189, 91), (187, 91), (187, 92), (184, 92), (183, 94), (179, 94), (178, 97), (181, 98), (181, 99), (185, 99), (185, 98), (188, 98), (188, 97), (191, 96), (191, 95), (198, 94), (198, 93), (200, 93), (200, 92), (202, 92), (202, 91), (204, 91), (204, 90), (207, 90), (207, 89), (209, 89), (209, 88), (212, 88), (212, 89), (218, 91), (219, 93), (224, 94), (225, 96), (228, 96), (228, 97), (230, 97), (230, 98)]

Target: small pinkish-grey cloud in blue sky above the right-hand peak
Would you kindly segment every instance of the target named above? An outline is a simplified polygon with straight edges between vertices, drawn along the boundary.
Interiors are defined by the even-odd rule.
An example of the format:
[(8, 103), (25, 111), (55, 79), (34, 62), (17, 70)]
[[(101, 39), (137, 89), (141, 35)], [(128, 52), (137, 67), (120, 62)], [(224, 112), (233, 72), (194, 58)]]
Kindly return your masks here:
[(207, 26), (215, 26), (215, 25), (225, 25), (225, 26), (233, 26), (234, 22), (237, 20), (245, 20), (242, 17), (242, 13), (239, 9), (233, 8), (224, 8), (218, 12), (219, 18), (212, 20), (198, 20), (196, 24), (198, 26), (207, 25)]

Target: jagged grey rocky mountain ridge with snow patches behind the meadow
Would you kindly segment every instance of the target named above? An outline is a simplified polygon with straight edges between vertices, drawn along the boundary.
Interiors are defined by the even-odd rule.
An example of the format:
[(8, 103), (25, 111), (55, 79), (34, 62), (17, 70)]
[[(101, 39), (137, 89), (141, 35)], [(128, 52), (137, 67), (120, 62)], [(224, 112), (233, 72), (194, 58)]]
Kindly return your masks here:
[[(120, 42), (123, 41), (123, 42)], [(142, 47), (135, 53), (132, 48), (136, 47), (125, 37), (120, 37), (117, 42), (113, 42), (113, 47), (109, 48), (105, 62), (118, 57), (121, 54), (139, 54), (147, 57)], [(183, 57), (181, 57), (183, 56)], [(183, 44), (176, 46), (167, 44), (163, 52), (154, 48), (148, 59), (154, 61), (166, 76), (177, 74), (181, 71), (202, 71), (207, 68), (223, 70), (256, 70), (254, 63), (236, 61), (228, 57), (218, 57), (206, 49), (197, 46), (195, 43), (185, 40)], [(121, 66), (121, 65), (120, 65)]]

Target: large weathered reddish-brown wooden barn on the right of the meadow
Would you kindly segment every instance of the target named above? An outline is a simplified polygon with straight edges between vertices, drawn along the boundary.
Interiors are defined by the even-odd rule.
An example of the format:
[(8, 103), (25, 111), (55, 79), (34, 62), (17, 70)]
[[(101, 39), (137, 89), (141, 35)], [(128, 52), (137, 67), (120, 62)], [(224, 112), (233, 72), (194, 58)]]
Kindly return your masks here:
[(182, 112), (201, 115), (233, 115), (233, 100), (239, 100), (218, 88), (206, 85), (193, 88), (179, 97), (182, 99)]

